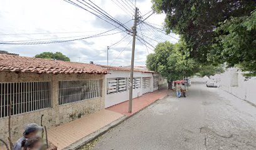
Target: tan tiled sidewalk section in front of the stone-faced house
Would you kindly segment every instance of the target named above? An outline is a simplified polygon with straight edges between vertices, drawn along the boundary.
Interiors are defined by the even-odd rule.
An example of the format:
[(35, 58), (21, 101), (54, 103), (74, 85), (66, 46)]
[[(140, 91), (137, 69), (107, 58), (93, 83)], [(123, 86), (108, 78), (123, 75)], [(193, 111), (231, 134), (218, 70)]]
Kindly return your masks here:
[(58, 149), (63, 149), (107, 126), (107, 124), (122, 118), (122, 116), (122, 114), (113, 111), (102, 110), (70, 123), (50, 128), (48, 130), (48, 140), (55, 144)]

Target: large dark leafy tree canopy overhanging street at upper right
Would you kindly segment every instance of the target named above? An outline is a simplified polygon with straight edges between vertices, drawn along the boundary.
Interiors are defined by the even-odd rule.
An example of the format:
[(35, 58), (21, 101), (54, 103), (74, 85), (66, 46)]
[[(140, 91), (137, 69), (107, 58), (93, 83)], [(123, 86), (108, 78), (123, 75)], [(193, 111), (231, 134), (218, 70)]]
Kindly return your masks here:
[[(250, 16), (256, 7), (255, 0), (152, 0), (152, 3), (156, 12), (166, 14), (166, 32), (176, 32), (186, 42), (189, 57), (209, 63), (214, 56), (221, 58), (221, 63), (227, 61), (232, 66), (239, 64), (245, 71), (256, 70), (252, 62), (255, 63), (255, 53), (251, 49), (255, 47), (255, 41), (252, 42), (255, 17)], [(249, 41), (243, 40), (243, 36), (249, 35)], [(241, 40), (233, 42), (235, 38)], [(244, 45), (246, 47), (240, 49)], [(240, 50), (233, 51), (233, 47)], [(230, 54), (233, 57), (227, 57)]]

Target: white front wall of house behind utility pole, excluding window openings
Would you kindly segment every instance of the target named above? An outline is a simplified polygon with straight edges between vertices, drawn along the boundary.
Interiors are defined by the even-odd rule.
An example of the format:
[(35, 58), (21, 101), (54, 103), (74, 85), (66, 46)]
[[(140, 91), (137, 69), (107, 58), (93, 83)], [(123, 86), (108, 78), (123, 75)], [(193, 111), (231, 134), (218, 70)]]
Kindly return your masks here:
[[(134, 78), (139, 77), (141, 78), (141, 88), (133, 89), (132, 91), (132, 98), (137, 98), (142, 96), (144, 93), (152, 92), (153, 91), (153, 74), (152, 73), (141, 73), (134, 71)], [(149, 77), (149, 89), (142, 88), (142, 78)], [(105, 85), (107, 86), (107, 78), (130, 78), (129, 71), (117, 71), (117, 70), (109, 70), (109, 74), (105, 76)], [(128, 84), (128, 83), (127, 83)], [(129, 100), (129, 88), (127, 91), (122, 93), (113, 93), (113, 94), (105, 94), (105, 108), (109, 108), (115, 104), (122, 103), (124, 101)], [(107, 88), (105, 89), (105, 93), (107, 93)]]

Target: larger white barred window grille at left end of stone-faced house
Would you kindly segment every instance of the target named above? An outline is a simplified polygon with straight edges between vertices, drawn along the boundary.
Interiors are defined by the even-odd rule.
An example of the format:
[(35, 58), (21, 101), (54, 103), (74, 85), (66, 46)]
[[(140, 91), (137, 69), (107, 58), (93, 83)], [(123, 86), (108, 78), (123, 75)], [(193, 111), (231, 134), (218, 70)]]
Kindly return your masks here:
[(0, 83), (0, 118), (51, 107), (51, 83)]

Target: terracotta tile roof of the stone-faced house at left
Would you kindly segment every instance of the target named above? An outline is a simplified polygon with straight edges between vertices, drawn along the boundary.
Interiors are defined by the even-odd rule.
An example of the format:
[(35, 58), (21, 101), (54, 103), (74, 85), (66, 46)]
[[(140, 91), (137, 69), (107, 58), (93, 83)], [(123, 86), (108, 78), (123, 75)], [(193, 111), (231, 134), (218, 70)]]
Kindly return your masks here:
[(0, 54), (0, 71), (21, 71), (48, 74), (107, 74), (107, 69), (95, 64), (55, 61)]

